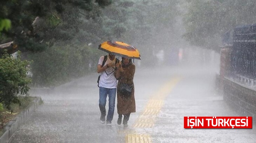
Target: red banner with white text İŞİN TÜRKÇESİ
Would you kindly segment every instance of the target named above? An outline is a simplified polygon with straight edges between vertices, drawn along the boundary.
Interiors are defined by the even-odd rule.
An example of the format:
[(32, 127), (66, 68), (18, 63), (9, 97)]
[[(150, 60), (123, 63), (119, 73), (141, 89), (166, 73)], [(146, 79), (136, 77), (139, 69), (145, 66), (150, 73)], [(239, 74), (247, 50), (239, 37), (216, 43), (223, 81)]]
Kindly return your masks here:
[(252, 129), (252, 117), (184, 117), (185, 129)]

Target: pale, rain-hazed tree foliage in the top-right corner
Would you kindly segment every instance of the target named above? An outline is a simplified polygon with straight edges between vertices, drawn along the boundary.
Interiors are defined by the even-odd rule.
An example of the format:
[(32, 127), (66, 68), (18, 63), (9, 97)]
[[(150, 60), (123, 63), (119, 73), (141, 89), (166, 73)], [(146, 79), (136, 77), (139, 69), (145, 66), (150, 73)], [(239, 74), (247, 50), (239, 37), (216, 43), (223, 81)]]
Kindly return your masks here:
[(187, 0), (184, 37), (193, 45), (217, 48), (223, 33), (232, 28), (253, 24), (256, 20), (254, 0)]

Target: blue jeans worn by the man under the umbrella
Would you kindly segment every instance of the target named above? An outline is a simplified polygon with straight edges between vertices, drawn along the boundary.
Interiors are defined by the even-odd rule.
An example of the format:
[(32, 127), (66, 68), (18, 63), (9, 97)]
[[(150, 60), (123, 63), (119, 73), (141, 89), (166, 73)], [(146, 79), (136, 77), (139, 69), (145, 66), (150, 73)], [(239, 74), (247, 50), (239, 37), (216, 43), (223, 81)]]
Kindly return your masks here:
[(106, 116), (106, 102), (107, 102), (107, 96), (108, 96), (108, 115), (107, 115), (107, 121), (112, 121), (115, 111), (115, 100), (116, 100), (116, 88), (100, 88), (100, 94), (99, 94), (99, 107), (100, 112), (102, 116)]

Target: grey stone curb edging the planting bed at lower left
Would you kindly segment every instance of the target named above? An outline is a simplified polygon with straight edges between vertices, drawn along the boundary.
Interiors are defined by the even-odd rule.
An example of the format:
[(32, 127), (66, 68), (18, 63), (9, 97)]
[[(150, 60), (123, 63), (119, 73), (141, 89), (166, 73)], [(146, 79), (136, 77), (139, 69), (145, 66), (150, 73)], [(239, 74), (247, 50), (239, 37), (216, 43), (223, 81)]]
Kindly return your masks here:
[(30, 103), (28, 105), (28, 108), (26, 110), (20, 112), (15, 119), (10, 121), (5, 128), (3, 129), (3, 135), (0, 137), (0, 143), (7, 143), (8, 140), (12, 137), (12, 135), (15, 133), (15, 131), (18, 130), (18, 128), (29, 119), (29, 117), (33, 114), (33, 112), (37, 109), (37, 106), (39, 105), (40, 97), (36, 97), (34, 99), (33, 103)]

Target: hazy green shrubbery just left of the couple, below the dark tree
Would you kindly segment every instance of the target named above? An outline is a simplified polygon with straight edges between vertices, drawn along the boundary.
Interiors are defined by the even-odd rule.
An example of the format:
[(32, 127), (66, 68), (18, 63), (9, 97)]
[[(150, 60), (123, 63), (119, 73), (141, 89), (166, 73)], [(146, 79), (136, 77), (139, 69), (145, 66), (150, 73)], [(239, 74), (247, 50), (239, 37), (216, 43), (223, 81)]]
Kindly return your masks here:
[(63, 84), (94, 70), (99, 57), (96, 48), (84, 46), (53, 46), (40, 53), (30, 53), (33, 60), (33, 86), (51, 87)]

